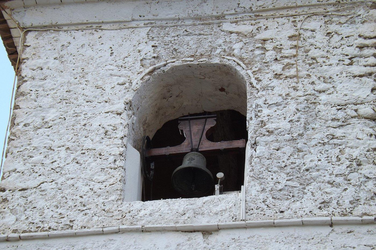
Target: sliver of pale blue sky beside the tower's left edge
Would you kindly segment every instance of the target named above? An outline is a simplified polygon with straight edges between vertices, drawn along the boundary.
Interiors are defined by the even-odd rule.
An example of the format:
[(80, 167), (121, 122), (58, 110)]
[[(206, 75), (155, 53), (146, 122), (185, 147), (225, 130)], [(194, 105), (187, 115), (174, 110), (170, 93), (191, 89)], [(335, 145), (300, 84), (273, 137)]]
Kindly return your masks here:
[(13, 79), (13, 67), (7, 57), (4, 45), (0, 42), (0, 157), (6, 133), (6, 125), (8, 124)]

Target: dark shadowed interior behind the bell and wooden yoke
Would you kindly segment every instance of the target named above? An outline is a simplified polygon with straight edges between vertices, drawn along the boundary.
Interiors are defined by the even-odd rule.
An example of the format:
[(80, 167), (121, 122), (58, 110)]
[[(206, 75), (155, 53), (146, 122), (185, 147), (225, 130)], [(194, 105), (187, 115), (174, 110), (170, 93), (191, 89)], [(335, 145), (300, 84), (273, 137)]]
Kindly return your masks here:
[[(220, 110), (214, 112), (204, 112), (190, 114), (190, 117), (202, 115), (216, 115), (216, 124), (212, 126), (205, 136), (211, 142), (223, 142), (245, 139), (248, 132), (246, 129), (246, 117), (235, 110)], [(186, 116), (187, 117), (187, 116)], [(178, 146), (182, 144), (186, 137), (178, 128), (179, 119), (166, 122), (157, 130), (151, 139), (153, 148), (167, 146)], [(224, 173), (225, 180), (221, 182), (224, 192), (238, 191), (244, 181), (245, 147), (232, 149), (218, 149), (212, 151), (199, 152), (206, 159), (206, 168), (215, 178), (218, 172)], [(170, 154), (158, 157), (150, 157), (148, 164), (154, 164), (153, 180), (145, 180), (143, 200), (160, 200), (173, 198), (191, 198), (174, 189), (171, 176), (174, 170), (181, 166), (186, 154)], [(188, 178), (188, 177), (187, 177)], [(201, 196), (209, 196), (214, 192), (214, 185)]]

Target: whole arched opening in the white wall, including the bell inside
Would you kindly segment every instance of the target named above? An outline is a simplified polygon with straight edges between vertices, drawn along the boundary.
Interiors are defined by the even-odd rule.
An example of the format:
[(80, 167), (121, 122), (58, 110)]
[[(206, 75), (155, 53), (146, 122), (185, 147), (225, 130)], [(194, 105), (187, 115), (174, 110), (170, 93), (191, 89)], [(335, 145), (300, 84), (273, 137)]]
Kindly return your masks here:
[[(213, 195), (218, 173), (224, 193), (239, 191), (248, 139), (246, 85), (224, 63), (179, 64), (148, 76), (131, 101), (124, 200), (134, 200), (127, 195), (137, 183), (143, 201)], [(133, 167), (137, 151), (141, 162)], [(184, 159), (189, 152), (197, 154)]]

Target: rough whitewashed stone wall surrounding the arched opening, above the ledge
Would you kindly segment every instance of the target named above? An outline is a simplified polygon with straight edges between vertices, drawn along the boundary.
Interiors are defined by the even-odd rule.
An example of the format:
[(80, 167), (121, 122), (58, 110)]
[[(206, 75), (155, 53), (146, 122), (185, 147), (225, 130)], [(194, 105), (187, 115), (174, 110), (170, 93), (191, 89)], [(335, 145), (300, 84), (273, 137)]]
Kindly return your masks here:
[[(246, 81), (247, 220), (375, 215), (373, 6), (357, 6), (347, 17), (306, 19), (300, 83), (294, 63), (303, 16), (29, 32), (0, 184), (1, 232), (239, 220), (237, 193), (122, 202), (125, 145), (138, 116), (132, 99), (149, 83), (149, 76), (138, 85), (135, 79), (173, 59), (153, 74), (187, 63), (220, 63)], [(163, 105), (141, 111), (162, 115), (156, 106)]]

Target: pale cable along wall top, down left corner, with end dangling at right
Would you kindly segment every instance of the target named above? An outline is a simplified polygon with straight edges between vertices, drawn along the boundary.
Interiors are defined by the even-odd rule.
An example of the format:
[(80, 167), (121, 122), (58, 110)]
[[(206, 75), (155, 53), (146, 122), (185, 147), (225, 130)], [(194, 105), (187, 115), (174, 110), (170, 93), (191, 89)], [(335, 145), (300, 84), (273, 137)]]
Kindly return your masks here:
[[(255, 10), (251, 12), (242, 12), (242, 13), (229, 13), (229, 14), (224, 14), (224, 15), (214, 15), (214, 16), (202, 16), (202, 17), (195, 17), (194, 19), (204, 19), (204, 18), (219, 18), (219, 17), (226, 17), (226, 16), (235, 16), (235, 15), (246, 15), (246, 14), (255, 14), (258, 12), (264, 12), (264, 11), (272, 11), (272, 10), (284, 10), (284, 9), (296, 9), (296, 8), (304, 8), (304, 7), (317, 7), (317, 6), (328, 6), (328, 5), (338, 5), (338, 4), (360, 4), (360, 3), (365, 3), (365, 2), (374, 2), (374, 1), (355, 1), (355, 2), (331, 2), (331, 3), (320, 3), (320, 4), (311, 4), (311, 5), (297, 5), (297, 6), (284, 6), (284, 7), (276, 7), (276, 8), (265, 8), (261, 10)], [(1, 6), (1, 5), (0, 5)], [(10, 121), (11, 121), (11, 115), (13, 111), (13, 104), (14, 104), (14, 91), (16, 88), (16, 79), (17, 75), (19, 73), (19, 64), (21, 60), (21, 54), (23, 52), (23, 40), (24, 40), (24, 34), (29, 31), (79, 31), (79, 30), (124, 30), (124, 29), (137, 29), (137, 28), (148, 28), (148, 27), (177, 27), (177, 26), (192, 26), (192, 25), (203, 25), (203, 24), (214, 24), (214, 23), (226, 23), (226, 22), (240, 22), (240, 21), (256, 21), (256, 20), (262, 20), (262, 19), (275, 19), (275, 18), (285, 18), (285, 17), (297, 17), (297, 16), (305, 16), (304, 20), (302, 21), (299, 29), (298, 29), (298, 37), (297, 37), (297, 52), (298, 52), (298, 43), (299, 43), (299, 35), (300, 35), (300, 28), (305, 21), (306, 18), (310, 16), (316, 16), (316, 15), (330, 15), (330, 16), (349, 16), (355, 12), (355, 10), (352, 13), (346, 13), (346, 14), (334, 14), (330, 12), (338, 12), (341, 10), (345, 10), (348, 8), (355, 8), (355, 6), (350, 6), (350, 7), (345, 7), (341, 9), (331, 9), (331, 10), (326, 10), (326, 11), (316, 11), (316, 12), (305, 12), (305, 13), (294, 13), (294, 14), (282, 14), (282, 15), (267, 15), (267, 16), (258, 16), (258, 17), (250, 17), (250, 18), (240, 18), (240, 19), (234, 19), (234, 20), (211, 20), (211, 21), (195, 21), (195, 22), (180, 22), (180, 23), (159, 23), (159, 24), (143, 24), (143, 25), (127, 25), (123, 27), (114, 27), (114, 28), (104, 28), (104, 27), (72, 27), (72, 28), (23, 28), (20, 26), (20, 24), (11, 16), (9, 15), (5, 9), (1, 6), (1, 9), (9, 16), (13, 21), (16, 22), (18, 28), (21, 33), (20, 37), (20, 47), (19, 47), (19, 54), (17, 58), (17, 63), (16, 63), (16, 70), (15, 70), (15, 78), (13, 82), (13, 91), (12, 91), (12, 99), (10, 102), (10, 108), (9, 108), (9, 118), (8, 118), (8, 125), (7, 125), (7, 130), (5, 133), (5, 138), (4, 138), (4, 147), (2, 149), (2, 154), (1, 154), (1, 163), (0, 163), (0, 182), (2, 179), (2, 169), (3, 169), (3, 158), (4, 158), (4, 153), (5, 153), (5, 145), (7, 142), (8, 138), (8, 130), (10, 127)], [(355, 8), (356, 9), (356, 8)], [(155, 21), (181, 21), (182, 19), (160, 19), (160, 20), (155, 20)], [(184, 19), (182, 20), (184, 21)], [(117, 22), (125, 22), (125, 21), (117, 21)], [(134, 22), (134, 21), (132, 21)], [(98, 24), (104, 24), (105, 22), (100, 22)], [(112, 21), (114, 23), (114, 21)], [(79, 23), (80, 25), (83, 25), (83, 23)], [(88, 23), (87, 23), (88, 24)], [(108, 24), (108, 23), (107, 23)], [(62, 24), (60, 24), (62, 25)], [(65, 26), (68, 25), (75, 25), (75, 24), (66, 24)], [(78, 24), (77, 24), (78, 25)], [(56, 27), (56, 26), (55, 26)], [(298, 53), (296, 53), (296, 68), (297, 68), (297, 79), (299, 83), (299, 76), (298, 76)]]

